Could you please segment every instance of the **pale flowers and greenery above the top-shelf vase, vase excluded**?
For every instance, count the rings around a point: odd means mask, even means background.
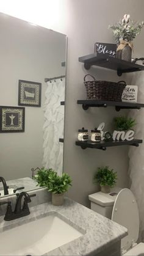
[[[122,20],[118,21],[118,23],[115,25],[109,25],[109,28],[112,29],[117,43],[119,43],[121,40],[131,42],[137,35],[140,34],[143,24],[143,21],[140,23],[135,23],[130,19],[129,14],[125,14]]]

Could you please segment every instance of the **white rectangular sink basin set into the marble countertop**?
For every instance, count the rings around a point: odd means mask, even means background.
[[[43,255],[84,233],[68,224],[60,214],[52,212],[0,233],[0,255]]]

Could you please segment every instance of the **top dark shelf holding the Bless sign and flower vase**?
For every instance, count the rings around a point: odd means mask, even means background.
[[[144,70],[144,66],[142,65],[138,65],[132,62],[128,62],[126,60],[121,60],[113,57],[99,58],[96,56],[96,53],[79,57],[79,62],[84,63],[84,67],[86,70],[90,69],[90,67],[93,65],[103,68],[109,68],[112,70],[117,70],[118,76],[121,76],[123,73]]]

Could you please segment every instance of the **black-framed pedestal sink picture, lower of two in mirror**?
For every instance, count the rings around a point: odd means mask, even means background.
[[[25,108],[0,106],[0,133],[24,132]]]

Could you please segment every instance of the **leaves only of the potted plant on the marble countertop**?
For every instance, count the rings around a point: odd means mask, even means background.
[[[51,172],[49,174],[48,191],[54,194],[62,194],[68,191],[71,182],[70,176],[65,172],[62,176],[57,175],[56,172]]]

